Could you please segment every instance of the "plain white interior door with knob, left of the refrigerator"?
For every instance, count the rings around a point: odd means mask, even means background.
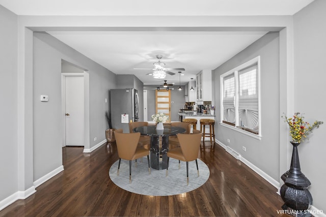
[[[84,77],[65,77],[66,145],[84,146]]]

